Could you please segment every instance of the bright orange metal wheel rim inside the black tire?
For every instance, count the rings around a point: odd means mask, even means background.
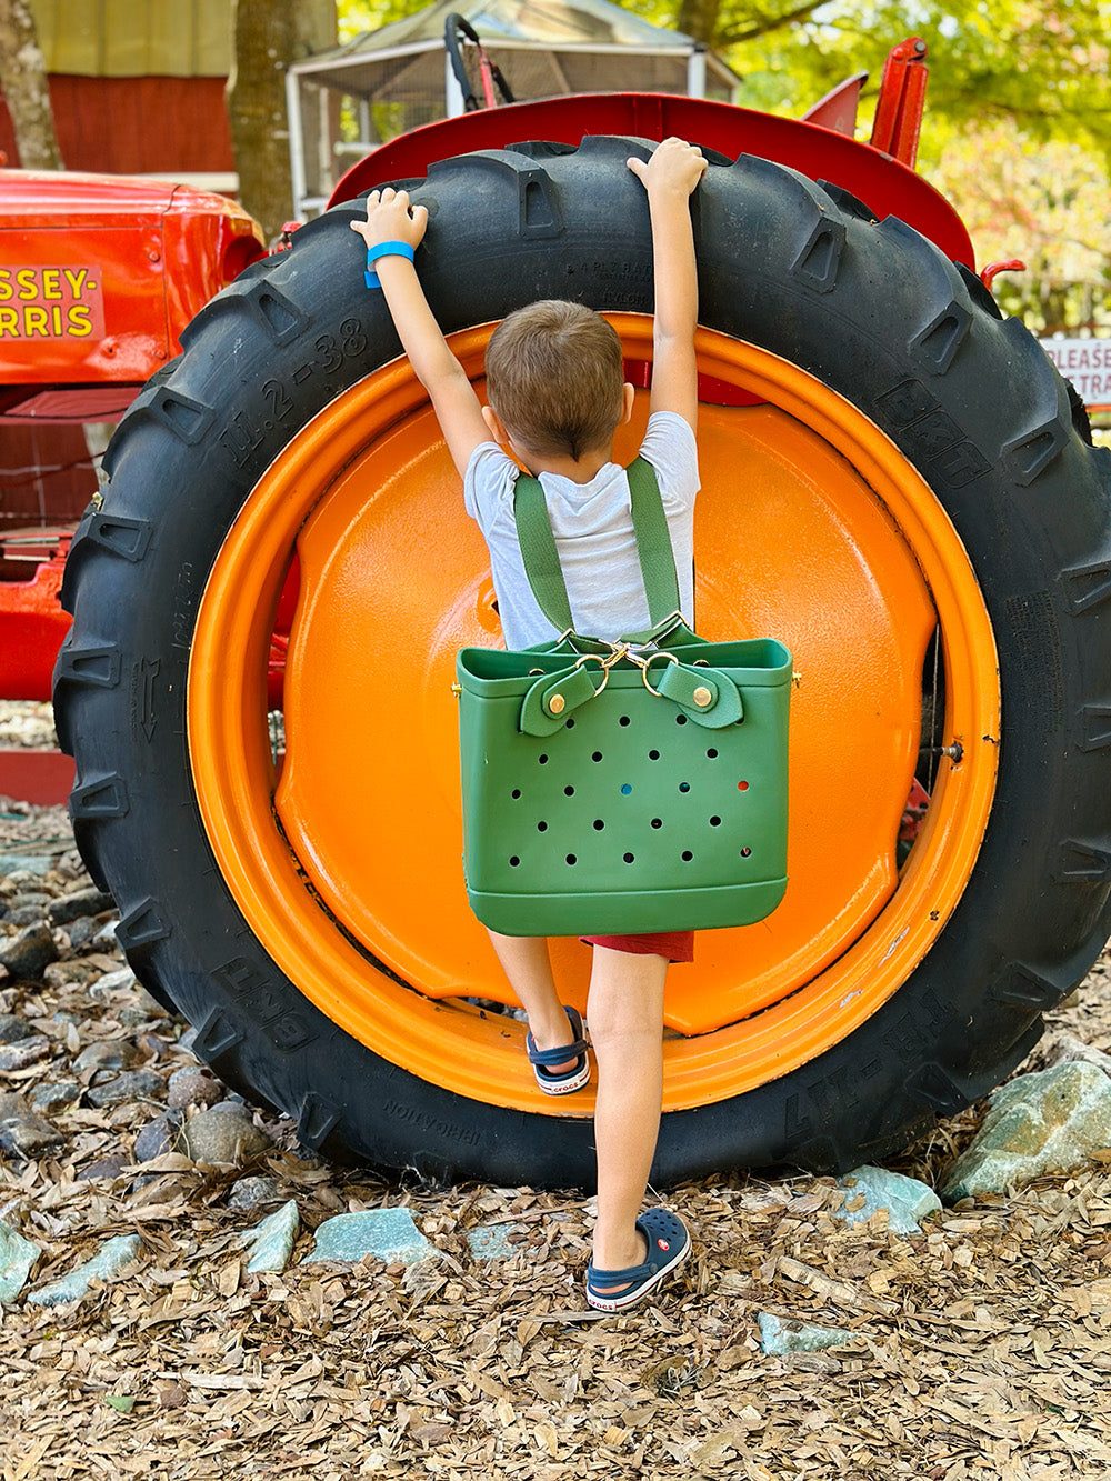
[[[650,358],[649,318],[607,317],[631,358]],[[476,381],[492,327],[452,339]],[[699,628],[781,637],[801,681],[788,893],[767,921],[699,936],[699,961],[671,972],[670,1111],[782,1077],[898,991],[967,884],[1000,735],[991,621],[918,472],[797,366],[710,330],[698,352],[707,375],[767,403],[701,412]],[[615,456],[633,455],[644,415]],[[295,548],[302,586],[278,776],[267,650]],[[952,749],[899,871],[935,625]],[[458,1094],[590,1115],[590,1091],[573,1106],[541,1094],[521,1023],[464,1001],[513,1001],[465,905],[450,696],[455,649],[496,640],[481,538],[425,392],[394,361],[292,440],[224,541],[190,658],[193,780],[240,911],[327,1017]],[[558,943],[557,958],[569,1001],[584,1007],[587,948]]]

